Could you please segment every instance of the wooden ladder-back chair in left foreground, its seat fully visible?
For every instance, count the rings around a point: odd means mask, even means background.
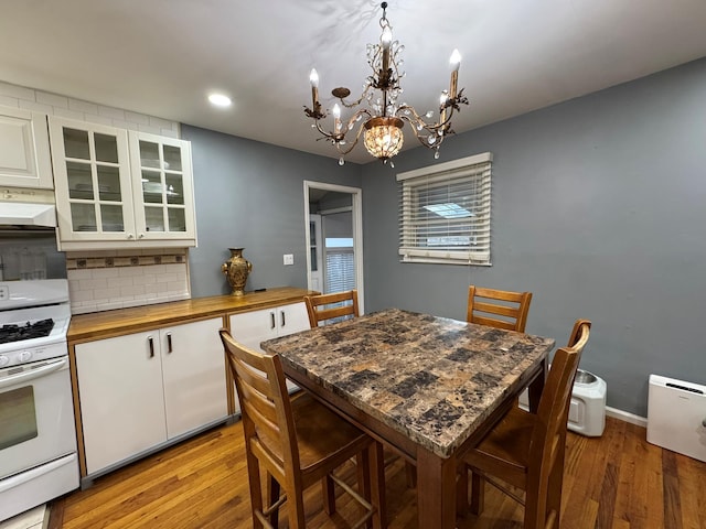
[[[319,482],[329,515],[335,512],[335,483],[365,511],[351,527],[385,527],[382,445],[310,393],[290,398],[278,355],[248,349],[225,328],[220,334],[240,402],[253,527],[276,528],[287,501],[289,528],[303,529],[303,492]],[[357,492],[333,474],[351,457],[359,463]],[[261,472],[268,478],[265,501]]]

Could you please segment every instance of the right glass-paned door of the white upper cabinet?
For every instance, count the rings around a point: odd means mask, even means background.
[[[138,239],[195,238],[191,145],[129,132]]]

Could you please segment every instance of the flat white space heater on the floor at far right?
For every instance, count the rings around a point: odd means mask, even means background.
[[[706,462],[706,386],[650,375],[648,442]]]

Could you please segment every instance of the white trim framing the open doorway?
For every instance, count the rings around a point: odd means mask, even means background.
[[[304,234],[307,242],[307,287],[311,289],[311,237],[309,234],[309,190],[325,190],[336,193],[350,193],[353,217],[353,251],[355,253],[355,288],[361,314],[365,313],[365,288],[363,284],[363,190],[347,185],[328,184],[304,180]]]

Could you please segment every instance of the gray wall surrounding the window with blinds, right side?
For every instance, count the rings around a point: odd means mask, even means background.
[[[395,174],[431,151],[364,165],[367,311],[464,319],[470,283],[530,290],[530,333],[592,320],[608,406],[645,417],[651,373],[706,384],[705,95],[700,60],[447,140],[439,162],[494,154],[489,268],[399,262]]]

